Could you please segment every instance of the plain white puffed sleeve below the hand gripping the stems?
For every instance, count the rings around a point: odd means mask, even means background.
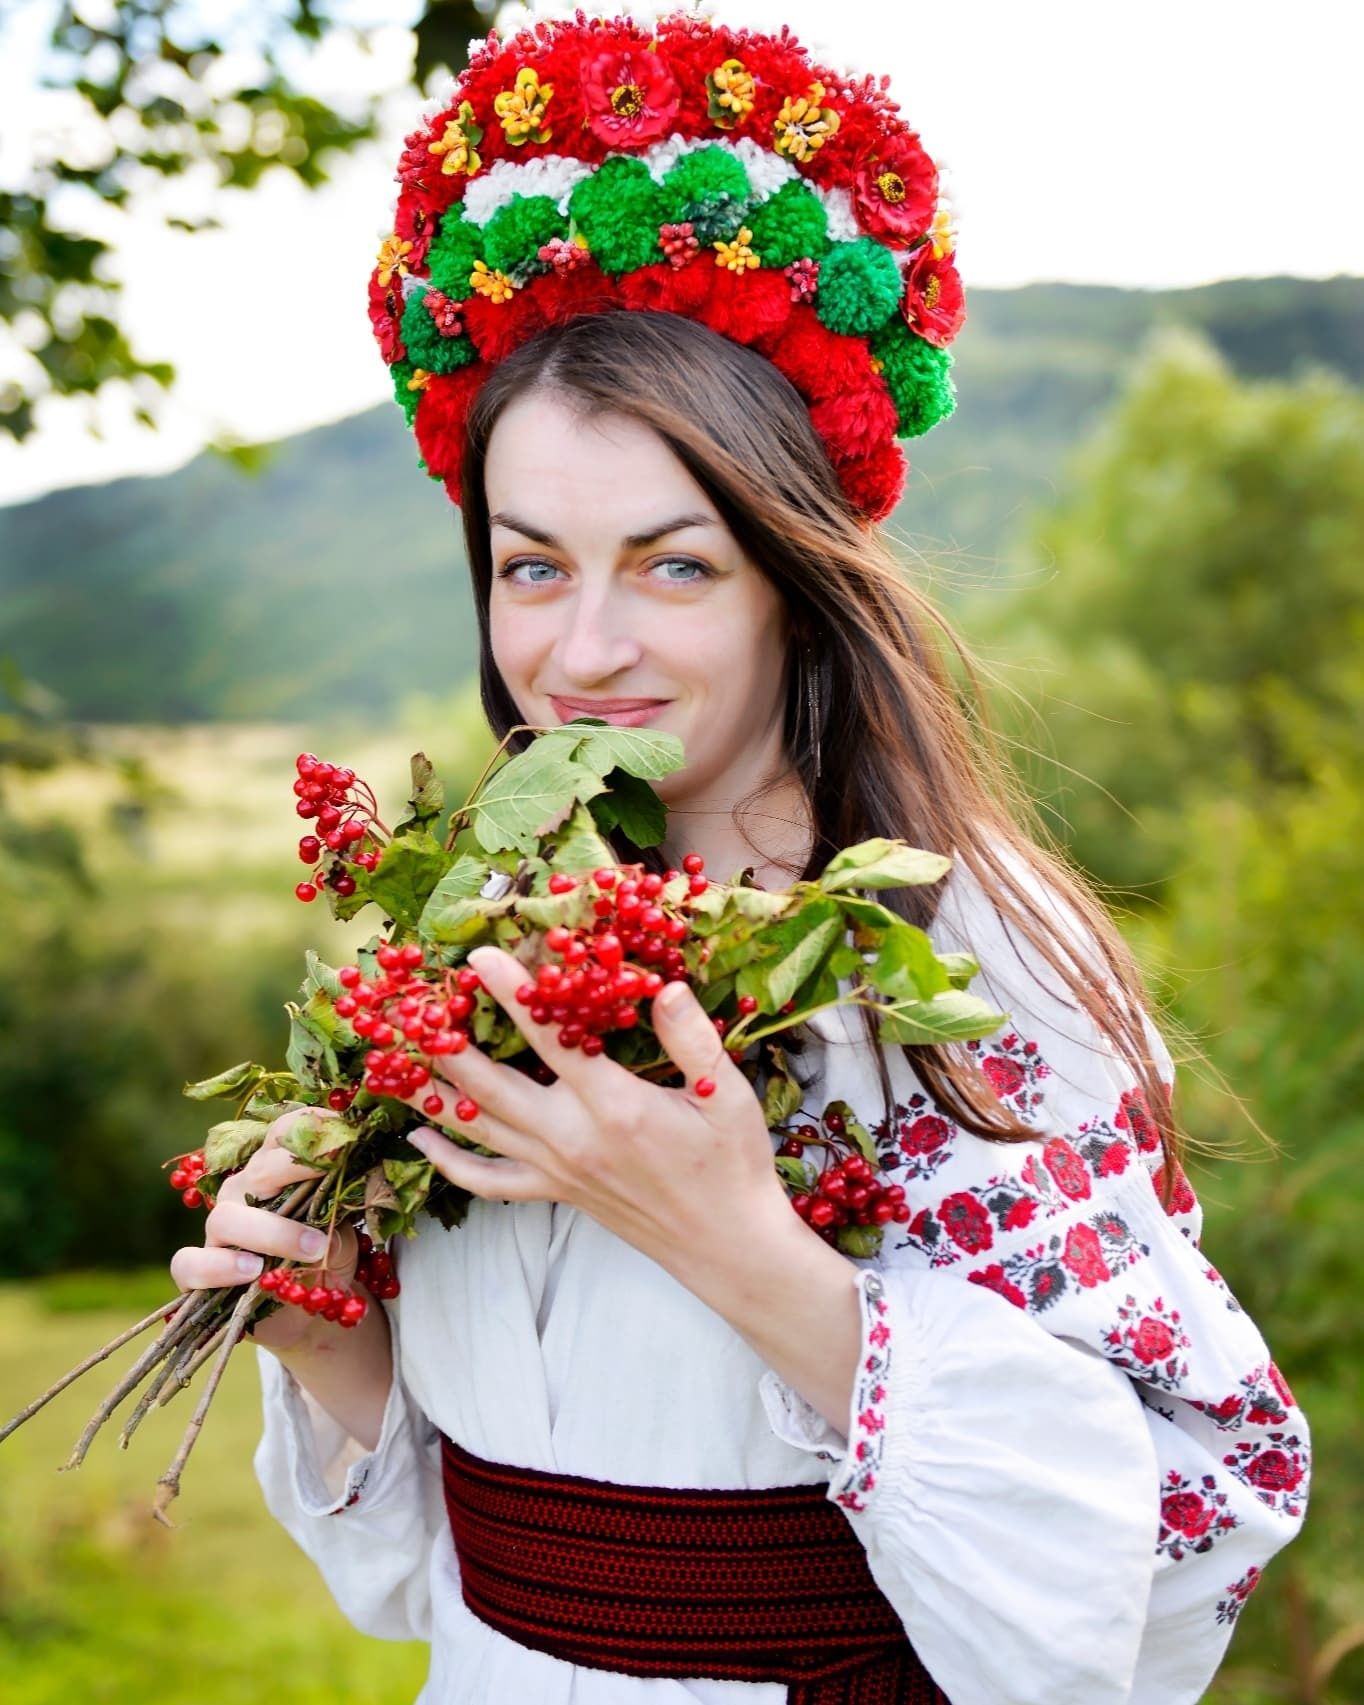
[[[431,1546],[445,1521],[440,1434],[394,1378],[372,1451],[269,1350],[256,1347],[264,1434],[254,1470],[266,1507],[314,1560],[343,1615],[380,1640],[430,1640]]]

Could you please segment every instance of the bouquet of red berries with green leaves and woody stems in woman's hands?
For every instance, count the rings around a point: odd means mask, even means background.
[[[852,1110],[832,1101],[815,1115],[801,1112],[789,1055],[793,1032],[830,1006],[870,1008],[887,1043],[970,1040],[1004,1021],[967,992],[979,968],[968,957],[938,955],[921,929],[873,897],[936,881],[950,861],[875,839],[835,854],[817,880],[779,892],[750,885],[747,871],[737,881],[713,881],[699,854],[685,856],[680,870],[621,864],[607,839],[614,830],[638,849],[663,839],[667,810],[650,783],[682,766],[680,742],[590,720],[518,728],[506,738],[525,731],[537,738],[498,766],[503,742],[443,837],[435,832],[443,789],[423,754],[411,760],[407,815],[392,830],[355,771],[314,754],[298,757],[295,808],[312,829],[298,842],[309,875],[295,895],[305,904],[326,895],[338,919],[375,904],[384,933],[358,950],[353,965],[332,967],[307,953],[298,999],[285,1006],[285,1069],[244,1061],[184,1088],[199,1101],[235,1103],[234,1117],[215,1124],[201,1149],[169,1163],[170,1187],[186,1207],[211,1209],[223,1180],[246,1166],[281,1113],[292,1113],[278,1141],[317,1175],[254,1205],[327,1231],[353,1226],[361,1289],[327,1289],[280,1260],[249,1286],[177,1296],[65,1374],[0,1427],[0,1439],[78,1374],[160,1325],[95,1410],[66,1466],[84,1459],[138,1384],[147,1381],[119,1434],[124,1448],[153,1403],[167,1403],[211,1362],[159,1482],[153,1512],[165,1521],[227,1359],[257,1320],[302,1308],[346,1328],[365,1316],[367,1294],[397,1294],[390,1240],[414,1236],[421,1212],[454,1229],[471,1200],[404,1142],[419,1124],[409,1098],[431,1081],[431,1061],[477,1047],[552,1083],[465,963],[486,943],[522,962],[517,999],[535,1025],[552,1026],[563,1047],[607,1054],[665,1086],[680,1084],[682,1072],[653,1032],[648,1001],[663,984],[687,980],[762,1101],[779,1139],[774,1165],[806,1224],[844,1253],[868,1257],[888,1222],[909,1219],[904,1190],[876,1176],[875,1142]],[[708,1083],[692,1088],[706,1095]],[[438,1110],[438,1098],[425,1105],[428,1113]],[[477,1105],[462,1100],[455,1117],[472,1122]]]

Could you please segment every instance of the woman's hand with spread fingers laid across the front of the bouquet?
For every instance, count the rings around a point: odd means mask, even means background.
[[[498,1202],[578,1207],[679,1277],[776,1224],[801,1229],[772,1166],[762,1107],[685,984],[665,984],[653,999],[658,1040],[687,1079],[684,1089],[663,1089],[605,1054],[561,1047],[552,1025],[535,1025],[517,1001],[525,967],[510,953],[477,948],[469,963],[558,1083],[537,1084],[472,1047],[438,1055],[445,1084],[431,1079],[407,1096],[413,1107],[433,1091],[442,1098],[442,1112],[413,1132],[438,1173]],[[714,1089],[697,1095],[704,1079]],[[460,1122],[465,1095],[479,1113]],[[496,1158],[469,1153],[440,1127]]]

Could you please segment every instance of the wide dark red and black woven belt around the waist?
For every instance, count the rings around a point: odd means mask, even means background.
[[[692,1492],[486,1463],[442,1434],[464,1603],[629,1676],[779,1681],[789,1705],[950,1705],[824,1485]]]

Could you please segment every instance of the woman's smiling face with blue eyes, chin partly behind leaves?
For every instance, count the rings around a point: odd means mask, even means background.
[[[738,798],[781,760],[781,597],[651,428],[530,392],[484,479],[493,656],[527,723],[679,735],[668,803]]]

